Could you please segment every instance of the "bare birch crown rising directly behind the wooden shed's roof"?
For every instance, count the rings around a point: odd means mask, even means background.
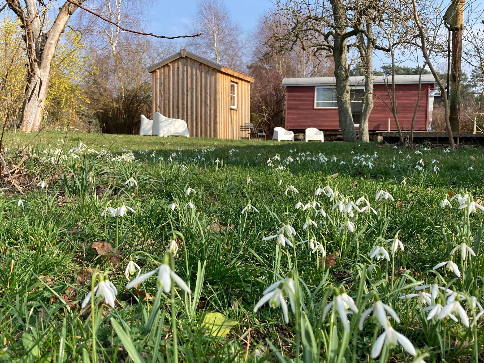
[[[230,68],[243,69],[241,54],[246,46],[243,31],[223,0],[200,0],[190,30],[202,33],[187,44],[194,53]]]

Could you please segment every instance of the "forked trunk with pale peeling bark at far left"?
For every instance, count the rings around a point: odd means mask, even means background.
[[[80,5],[84,0],[77,0],[76,2]],[[37,9],[34,0],[25,0],[27,14],[18,0],[13,0],[8,5],[25,29],[24,40],[28,57],[27,86],[20,131],[38,131],[47,98],[52,59],[67,21],[74,14],[77,6],[65,2],[52,27],[44,32],[40,19],[42,12]]]

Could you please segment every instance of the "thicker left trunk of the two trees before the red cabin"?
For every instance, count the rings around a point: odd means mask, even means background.
[[[341,0],[331,0],[334,19],[334,77],[336,79],[336,104],[338,106],[339,126],[343,141],[356,141],[355,125],[351,115],[351,99],[349,96],[348,61],[346,33],[348,19],[346,9]],[[342,33],[341,33],[342,32]]]

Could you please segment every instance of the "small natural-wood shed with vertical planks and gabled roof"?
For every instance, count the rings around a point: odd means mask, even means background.
[[[241,139],[254,78],[186,49],[153,64],[153,112],[181,118],[191,137]]]

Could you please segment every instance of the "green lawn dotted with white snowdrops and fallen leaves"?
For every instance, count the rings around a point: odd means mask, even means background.
[[[33,136],[0,362],[484,359],[481,149]]]

